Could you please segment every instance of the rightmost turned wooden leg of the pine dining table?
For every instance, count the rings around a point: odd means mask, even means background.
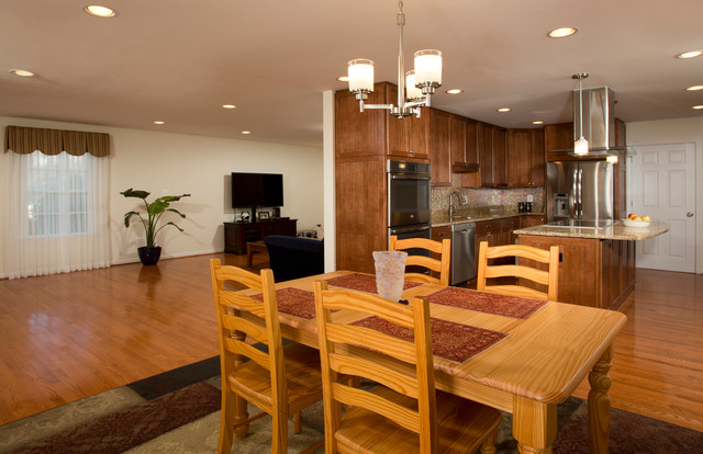
[[[589,374],[589,453],[607,453],[611,424],[611,376],[613,345],[603,353]]]

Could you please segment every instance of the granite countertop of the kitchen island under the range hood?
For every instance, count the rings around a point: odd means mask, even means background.
[[[578,228],[566,226],[535,226],[514,230],[515,235],[537,235],[544,237],[594,238],[611,240],[643,241],[669,231],[667,223],[652,220],[649,227],[625,227],[622,220],[604,228]]]

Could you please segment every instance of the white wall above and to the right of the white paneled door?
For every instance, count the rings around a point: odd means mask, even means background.
[[[703,273],[703,117],[627,123],[627,145],[694,143],[696,159],[696,273]]]

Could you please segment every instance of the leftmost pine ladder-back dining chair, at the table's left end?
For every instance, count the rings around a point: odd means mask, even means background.
[[[282,347],[271,270],[261,270],[259,275],[236,266],[223,266],[220,259],[210,260],[210,270],[222,371],[217,452],[228,454],[235,429],[239,428],[237,436],[243,438],[249,422],[268,413],[274,424],[271,453],[287,453],[288,417],[293,416],[294,432],[300,433],[300,411],[322,399],[320,353],[299,343]],[[260,292],[263,300],[225,290],[225,283],[237,283]],[[247,343],[247,337],[265,344],[266,351]],[[248,418],[247,401],[263,411]],[[246,415],[245,419],[235,420],[237,413]],[[303,453],[312,452],[323,443],[310,446]]]

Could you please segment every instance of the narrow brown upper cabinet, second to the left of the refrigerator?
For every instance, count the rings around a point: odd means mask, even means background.
[[[484,123],[479,124],[481,186],[507,186],[506,141],[506,129]]]

